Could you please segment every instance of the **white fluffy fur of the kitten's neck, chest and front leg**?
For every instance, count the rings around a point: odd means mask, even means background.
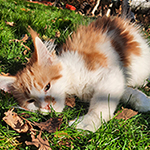
[[[68,51],[59,60],[63,65],[63,77],[58,81],[59,92],[62,90],[61,93],[75,94],[85,101],[91,100],[89,113],[83,120],[80,118],[82,121],[77,128],[95,131],[101,124],[100,114],[102,113],[104,120],[112,118],[124,92],[125,79],[122,69],[114,63],[110,68],[100,67],[89,71],[82,56],[77,52]]]

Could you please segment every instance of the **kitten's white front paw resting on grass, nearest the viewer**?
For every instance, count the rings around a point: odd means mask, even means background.
[[[97,118],[97,120],[93,120],[90,115],[85,115],[69,122],[69,126],[72,124],[76,124],[76,129],[95,132],[100,126],[100,119]]]

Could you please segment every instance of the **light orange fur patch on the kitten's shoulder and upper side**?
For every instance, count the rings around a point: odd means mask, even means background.
[[[107,57],[97,49],[96,44],[104,41],[105,37],[101,37],[93,27],[81,26],[77,32],[73,33],[63,45],[64,51],[78,51],[83,56],[85,64],[89,70],[95,70],[107,67]]]

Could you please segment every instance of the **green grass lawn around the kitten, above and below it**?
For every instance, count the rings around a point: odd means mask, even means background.
[[[41,37],[46,36],[55,39],[57,43],[65,41],[66,37],[77,27],[78,24],[86,24],[89,18],[82,17],[73,11],[59,10],[54,7],[28,3],[23,0],[0,0],[0,72],[16,71],[27,62],[29,52],[23,55],[25,48],[20,43],[12,42],[12,39],[21,39],[23,34],[28,33],[26,27],[30,25]],[[14,22],[14,26],[6,25],[6,22]],[[45,28],[46,27],[46,28]],[[57,30],[61,36],[55,37]],[[33,50],[32,42],[26,43]],[[148,93],[149,94],[149,93]],[[34,146],[26,146],[24,141],[30,139],[29,134],[19,134],[8,126],[2,118],[4,112],[12,106],[16,106],[14,98],[6,93],[0,93],[0,149],[36,149]],[[84,104],[83,104],[84,105]],[[63,123],[59,131],[55,133],[43,132],[42,137],[49,140],[52,149],[79,149],[79,150],[144,150],[150,149],[150,113],[138,114],[131,119],[117,120],[113,118],[103,123],[95,133],[76,130],[68,127],[68,121],[79,113],[81,103],[75,108],[66,106],[61,113]],[[30,121],[46,121],[50,117],[59,114],[52,113],[42,116],[38,113],[15,109],[21,116],[28,114]]]

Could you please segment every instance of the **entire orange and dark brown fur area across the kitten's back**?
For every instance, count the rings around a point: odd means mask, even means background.
[[[134,40],[131,28],[133,29],[127,20],[103,17],[87,27],[81,26],[66,41],[63,48],[65,51],[78,51],[79,54],[83,55],[87,68],[95,70],[100,66],[107,67],[108,65],[107,57],[96,48],[96,44],[104,43],[105,39],[109,38],[123,65],[127,67],[130,65],[131,54],[141,55],[139,43]]]

